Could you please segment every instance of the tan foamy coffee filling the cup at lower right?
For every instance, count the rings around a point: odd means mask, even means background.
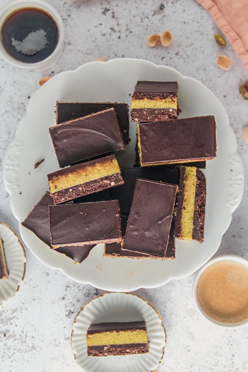
[[[197,283],[197,300],[202,310],[221,323],[238,323],[248,318],[248,267],[233,260],[208,266]]]

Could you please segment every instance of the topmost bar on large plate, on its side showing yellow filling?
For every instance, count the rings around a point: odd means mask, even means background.
[[[138,81],[132,96],[132,121],[175,120],[179,112],[176,81]]]

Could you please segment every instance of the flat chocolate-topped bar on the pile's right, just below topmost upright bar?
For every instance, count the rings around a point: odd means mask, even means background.
[[[137,129],[141,166],[187,163],[216,157],[214,116],[140,123]]]

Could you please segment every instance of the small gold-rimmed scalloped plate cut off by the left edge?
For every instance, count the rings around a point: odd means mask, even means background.
[[[4,252],[9,278],[0,279],[0,305],[13,298],[23,282],[26,270],[26,254],[16,233],[0,222],[0,237],[3,240]]]

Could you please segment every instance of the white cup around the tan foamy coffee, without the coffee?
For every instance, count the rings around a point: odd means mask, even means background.
[[[197,300],[197,294],[196,294],[196,290],[197,290],[197,284],[198,284],[198,281],[200,279],[200,276],[202,275],[202,273],[204,272],[204,270],[210,266],[212,263],[214,262],[218,262],[218,261],[223,261],[223,260],[230,260],[230,261],[235,261],[235,262],[239,262],[239,263],[242,263],[243,265],[247,266],[248,267],[248,260],[244,259],[243,257],[241,256],[236,256],[234,254],[223,254],[222,256],[218,256],[218,257],[213,257],[211,260],[209,260],[205,265],[203,265],[199,271],[197,272],[195,278],[194,278],[194,281],[193,281],[193,288],[192,288],[192,295],[193,295],[193,299],[194,299],[194,302],[198,308],[198,310],[200,311],[200,313],[203,315],[203,317],[205,317],[207,320],[209,320],[210,322],[212,322],[213,324],[216,324],[216,325],[219,325],[221,327],[225,327],[225,328],[236,328],[236,327],[242,327],[244,326],[245,324],[248,324],[248,318],[245,319],[245,320],[242,320],[241,322],[238,322],[238,323],[221,323],[221,322],[218,322],[217,320],[214,320],[213,318],[209,317],[204,311],[203,309],[200,307],[199,305],[199,302]]]

